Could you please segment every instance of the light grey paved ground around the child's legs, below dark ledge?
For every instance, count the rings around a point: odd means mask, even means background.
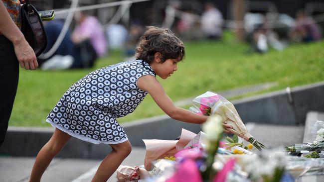
[[[142,165],[144,157],[144,148],[133,148],[122,165]],[[34,160],[33,157],[0,157],[0,182],[28,182]],[[90,182],[100,162],[86,159],[54,159],[45,171],[42,182]],[[108,182],[116,182],[116,175]]]

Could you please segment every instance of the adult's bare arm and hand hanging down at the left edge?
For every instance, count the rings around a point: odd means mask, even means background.
[[[35,53],[19,28],[12,21],[2,0],[0,0],[0,17],[0,32],[12,42],[20,66],[26,70],[36,69],[38,63]]]

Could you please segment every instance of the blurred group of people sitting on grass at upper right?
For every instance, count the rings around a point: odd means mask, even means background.
[[[277,12],[246,13],[246,40],[252,51],[265,53],[269,48],[284,50],[295,42],[314,42],[322,39],[322,30],[304,10],[296,12],[296,19]]]

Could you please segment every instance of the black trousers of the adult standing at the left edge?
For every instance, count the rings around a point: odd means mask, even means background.
[[[13,45],[0,35],[0,147],[8,129],[18,78],[19,63]]]

